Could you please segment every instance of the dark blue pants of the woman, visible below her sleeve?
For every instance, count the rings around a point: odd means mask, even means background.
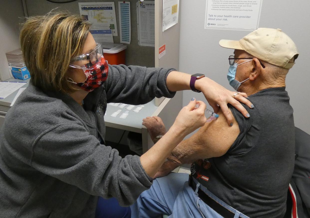
[[[130,218],[130,207],[121,207],[116,198],[104,199],[99,197],[95,218]]]

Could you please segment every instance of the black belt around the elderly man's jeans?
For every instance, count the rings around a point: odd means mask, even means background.
[[[189,178],[188,178],[188,185],[192,187],[194,191],[196,191],[196,185],[193,182],[193,178],[191,175],[189,175]],[[228,209],[226,209],[225,207],[217,203],[215,200],[210,198],[206,193],[201,191],[201,189],[198,189],[197,194],[198,194],[198,197],[204,203],[206,203],[209,207],[211,207],[215,212],[217,212],[219,215],[223,216],[224,218],[233,218],[235,216],[233,212],[229,211]]]

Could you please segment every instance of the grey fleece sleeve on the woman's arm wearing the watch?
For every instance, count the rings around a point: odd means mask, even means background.
[[[140,66],[108,65],[105,91],[108,102],[144,104],[157,97],[172,98],[175,92],[167,89],[166,80],[175,69]]]

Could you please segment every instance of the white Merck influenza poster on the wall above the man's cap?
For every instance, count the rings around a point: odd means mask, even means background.
[[[263,0],[207,0],[205,29],[253,31],[258,28]]]

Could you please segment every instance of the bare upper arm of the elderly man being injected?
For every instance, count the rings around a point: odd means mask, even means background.
[[[233,125],[228,126],[227,120],[220,110],[219,118],[206,123],[191,138],[201,149],[197,159],[219,157],[224,155],[238,137],[239,125],[233,116]]]

